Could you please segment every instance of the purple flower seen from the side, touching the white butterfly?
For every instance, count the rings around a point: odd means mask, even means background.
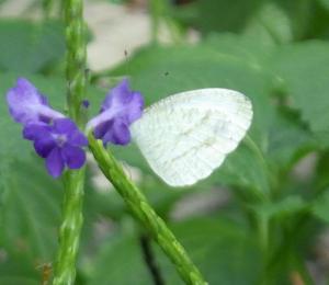
[[[95,138],[103,144],[127,145],[131,141],[129,125],[141,116],[144,99],[132,91],[124,79],[106,95],[100,114],[92,118],[87,129],[93,129]]]

